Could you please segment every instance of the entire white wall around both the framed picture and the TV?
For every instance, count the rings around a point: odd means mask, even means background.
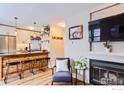
[[[104,8],[105,6],[108,6],[111,4],[103,4],[102,6],[99,7],[95,7],[95,10]],[[66,22],[66,28],[65,28],[65,57],[70,57],[73,58],[74,60],[79,59],[80,57],[85,58],[85,57],[89,57],[90,55],[92,55],[90,58],[94,57],[94,58],[101,58],[101,59],[111,59],[111,60],[115,60],[115,58],[120,58],[120,57],[124,57],[124,56],[118,56],[119,54],[124,55],[124,42],[112,42],[112,46],[113,46],[113,52],[111,54],[108,54],[102,43],[93,43],[93,53],[89,55],[89,43],[88,43],[88,21],[89,21],[89,13],[91,11],[93,11],[94,9],[90,10],[90,11],[86,11],[86,12],[82,12],[80,14],[76,14],[72,17],[70,17],[69,19],[67,19]],[[94,10],[94,11],[95,11]],[[115,15],[118,13],[122,13],[124,10],[124,5],[119,5],[117,7],[114,7],[112,9],[109,10],[105,10],[101,13],[96,13],[93,15],[93,20],[95,19],[100,19],[103,17],[107,17],[107,16],[111,16],[111,15]],[[83,31],[84,31],[84,35],[83,35],[83,39],[81,40],[69,40],[69,27],[71,26],[76,26],[76,25],[80,25],[83,24]],[[103,55],[97,54],[96,53],[103,53]],[[94,55],[94,56],[93,56]],[[100,55],[100,56],[99,56]],[[115,57],[116,56],[116,57]],[[89,67],[89,63],[87,65]],[[89,82],[89,71],[87,70],[86,72],[86,82]]]

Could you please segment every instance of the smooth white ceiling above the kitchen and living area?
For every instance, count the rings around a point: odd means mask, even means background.
[[[18,17],[19,26],[37,26],[57,23],[79,12],[85,12],[100,3],[22,3],[0,4],[0,23],[14,25],[14,17]]]

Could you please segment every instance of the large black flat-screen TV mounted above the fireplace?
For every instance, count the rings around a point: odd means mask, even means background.
[[[124,13],[89,22],[90,42],[124,41]]]

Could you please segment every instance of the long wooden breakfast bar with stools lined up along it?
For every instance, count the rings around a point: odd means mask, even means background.
[[[13,62],[13,61],[20,61],[23,62],[24,60],[35,60],[38,58],[47,58],[49,52],[14,52],[14,53],[6,53],[6,54],[0,54],[0,80],[4,79],[5,76],[5,68],[7,62]],[[43,63],[44,66],[48,67],[48,62]],[[13,70],[15,68],[11,68]],[[14,70],[12,71],[14,72]]]

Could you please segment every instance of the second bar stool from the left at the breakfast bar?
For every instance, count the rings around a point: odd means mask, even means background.
[[[31,72],[33,75],[35,74],[33,69],[34,69],[34,60],[31,58],[24,58],[22,61],[22,74],[24,78],[24,71],[25,71],[25,66],[28,65],[29,72]]]

